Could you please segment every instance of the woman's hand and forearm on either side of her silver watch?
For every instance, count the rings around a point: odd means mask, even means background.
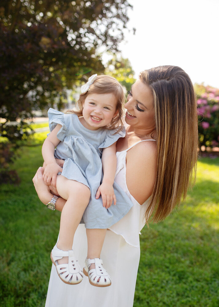
[[[51,193],[48,185],[44,183],[43,180],[43,168],[39,167],[35,176],[33,177],[33,184],[36,189],[36,193],[43,204],[48,204],[48,202],[52,199],[53,194]],[[59,197],[56,200],[56,210],[62,211],[66,200]]]

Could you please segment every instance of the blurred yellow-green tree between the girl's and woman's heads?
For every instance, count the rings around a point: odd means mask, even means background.
[[[106,64],[105,74],[116,78],[125,88],[130,91],[135,82],[134,71],[129,59],[121,56],[113,56]]]

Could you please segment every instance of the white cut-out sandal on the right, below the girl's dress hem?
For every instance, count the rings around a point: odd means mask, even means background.
[[[95,264],[95,269],[89,270],[91,263]],[[91,285],[96,287],[108,287],[111,285],[111,278],[107,271],[102,267],[103,261],[99,258],[86,259],[83,268],[84,275],[88,276]],[[100,280],[98,281],[98,279]]]

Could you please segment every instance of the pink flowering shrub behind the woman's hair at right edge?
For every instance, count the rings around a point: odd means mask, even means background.
[[[199,147],[219,146],[219,89],[194,85],[197,95]]]

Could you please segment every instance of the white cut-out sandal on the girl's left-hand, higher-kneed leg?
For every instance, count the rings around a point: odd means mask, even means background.
[[[56,266],[56,271],[63,282],[69,285],[79,284],[83,279],[83,273],[78,261],[75,259],[74,251],[62,251],[56,245],[51,252],[51,260]],[[58,260],[68,257],[68,263],[59,264]]]

